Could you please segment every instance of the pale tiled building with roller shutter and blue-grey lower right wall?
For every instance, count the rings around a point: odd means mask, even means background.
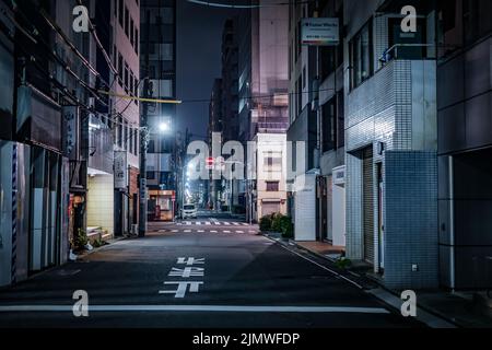
[[[390,288],[435,288],[437,135],[435,11],[414,1],[345,1],[347,256]]]

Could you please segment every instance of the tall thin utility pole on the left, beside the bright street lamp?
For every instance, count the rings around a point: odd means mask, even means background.
[[[150,98],[149,79],[149,55],[150,55],[150,11],[147,12],[147,52],[145,52],[145,74],[143,81],[143,97]],[[142,114],[140,116],[140,215],[139,215],[139,237],[144,237],[147,233],[147,151],[149,148],[149,104],[142,103]]]

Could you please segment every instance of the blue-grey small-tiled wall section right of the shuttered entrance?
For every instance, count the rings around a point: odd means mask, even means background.
[[[436,288],[436,152],[389,151],[385,162],[385,284]]]

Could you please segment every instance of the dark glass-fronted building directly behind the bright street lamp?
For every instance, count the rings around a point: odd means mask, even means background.
[[[149,78],[152,98],[176,97],[176,1],[142,0],[142,73]],[[143,108],[142,108],[143,113]],[[150,140],[147,158],[148,219],[174,220],[180,176],[176,147],[176,106],[151,104],[147,109]]]

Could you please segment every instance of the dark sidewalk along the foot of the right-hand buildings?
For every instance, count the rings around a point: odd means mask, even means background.
[[[294,242],[283,240],[280,235],[272,233],[267,236],[284,246],[307,250],[331,264],[336,262],[344,252],[343,247],[336,247],[324,242]],[[354,280],[356,280],[355,277],[361,273],[361,270],[364,269],[361,269],[358,265],[349,269],[348,272],[353,275]],[[354,273],[354,271],[358,273]],[[365,273],[362,272],[361,275]],[[360,277],[364,278],[364,276]],[[401,305],[399,293],[387,290],[375,279],[371,280],[374,282],[374,288],[370,289],[368,292],[384,303],[399,310]],[[419,291],[418,308],[418,314],[421,316],[419,318],[431,327],[492,328],[492,302],[484,293],[478,295],[472,292],[452,293],[444,290]],[[443,322],[440,322],[440,318]]]

